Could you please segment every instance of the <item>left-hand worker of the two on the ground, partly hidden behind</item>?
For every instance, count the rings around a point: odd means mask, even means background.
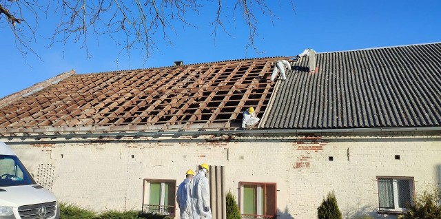
[[[179,210],[181,211],[181,219],[193,218],[193,205],[192,205],[192,179],[194,177],[194,171],[191,169],[185,173],[185,180],[179,185],[176,192],[176,202],[178,202]]]

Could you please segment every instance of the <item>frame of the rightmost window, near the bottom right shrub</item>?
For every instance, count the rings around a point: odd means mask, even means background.
[[[384,208],[380,207],[380,180],[392,180],[392,188],[393,188],[393,208]],[[378,191],[378,213],[395,213],[395,214],[401,214],[407,211],[407,208],[405,207],[399,207],[399,200],[398,200],[398,180],[409,180],[409,190],[411,192],[411,205],[414,205],[413,203],[413,197],[415,197],[415,178],[413,176],[377,176],[376,182],[377,182],[377,191]]]

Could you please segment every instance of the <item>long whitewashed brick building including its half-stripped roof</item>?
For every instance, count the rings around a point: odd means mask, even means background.
[[[178,218],[176,187],[208,163],[214,218],[227,191],[243,218],[316,218],[331,191],[345,218],[396,218],[441,185],[438,54],[429,43],[69,72],[0,100],[0,138],[60,200],[96,211]],[[271,83],[279,59],[291,68]],[[241,129],[251,106],[260,123]]]

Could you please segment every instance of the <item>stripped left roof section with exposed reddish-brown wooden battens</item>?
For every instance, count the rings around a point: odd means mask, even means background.
[[[278,59],[74,74],[0,107],[0,136],[236,129],[247,107],[263,115]]]

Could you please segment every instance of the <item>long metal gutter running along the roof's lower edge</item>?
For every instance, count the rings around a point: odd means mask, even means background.
[[[26,138],[105,138],[105,137],[143,137],[143,136],[201,136],[201,135],[253,135],[253,134],[308,134],[308,133],[354,133],[354,132],[427,132],[441,131],[441,127],[378,127],[349,129],[254,129],[254,130],[216,130],[216,131],[163,131],[163,132],[108,132],[83,134],[52,134],[26,136],[0,136],[7,139]]]

